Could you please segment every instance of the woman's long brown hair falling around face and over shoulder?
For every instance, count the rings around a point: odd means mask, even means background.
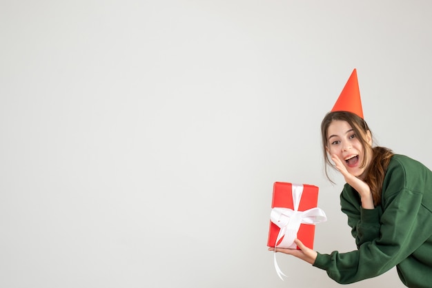
[[[362,163],[360,163],[360,167],[364,167],[366,165],[366,159],[371,159],[369,167],[366,167],[366,176],[364,177],[364,182],[369,185],[371,188],[371,193],[373,197],[373,204],[375,206],[380,205],[381,203],[381,194],[382,194],[382,182],[384,181],[384,176],[386,176],[386,170],[389,166],[390,159],[394,155],[389,148],[386,147],[372,147],[366,141],[366,134],[369,131],[372,136],[372,132],[369,129],[366,121],[364,121],[360,116],[353,114],[351,112],[337,111],[337,112],[329,112],[326,114],[321,123],[321,136],[322,136],[322,149],[324,153],[324,172],[326,177],[331,183],[334,183],[330,176],[328,175],[328,166],[333,167],[335,169],[335,165],[331,161],[330,155],[328,155],[326,147],[328,147],[328,126],[333,121],[346,121],[354,130],[354,133],[357,135],[357,139],[360,141],[363,150],[364,157]]]

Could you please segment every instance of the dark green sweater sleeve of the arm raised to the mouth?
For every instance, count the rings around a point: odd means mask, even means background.
[[[340,204],[342,212],[348,216],[348,225],[358,248],[379,236],[381,209],[364,209],[357,192],[352,187],[349,188],[346,187],[341,193]]]

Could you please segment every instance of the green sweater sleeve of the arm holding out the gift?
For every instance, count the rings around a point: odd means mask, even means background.
[[[431,231],[424,229],[424,223],[430,223],[432,219],[431,211],[422,205],[422,189],[406,187],[403,169],[395,169],[393,175],[386,176],[391,179],[383,191],[385,207],[376,237],[362,238],[359,226],[364,223],[358,220],[357,232],[354,232],[361,239],[358,250],[317,255],[313,265],[325,269],[336,282],[348,284],[383,274],[410,256],[431,236]],[[369,217],[348,214],[353,219]]]

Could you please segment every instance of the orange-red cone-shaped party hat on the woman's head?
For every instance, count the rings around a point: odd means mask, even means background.
[[[357,70],[353,70],[331,112],[347,111],[363,118],[362,99],[357,81]]]

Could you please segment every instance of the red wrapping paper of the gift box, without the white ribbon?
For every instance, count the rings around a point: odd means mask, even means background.
[[[298,186],[298,185],[297,185]],[[318,187],[314,185],[303,185],[303,192],[301,194],[300,203],[298,204],[297,211],[304,212],[308,209],[317,207],[318,203]],[[284,182],[275,182],[273,185],[273,200],[272,208],[283,207],[289,209],[295,209],[293,202],[293,184]],[[325,218],[324,212],[322,212]],[[324,220],[324,219],[323,219]],[[280,228],[275,223],[270,222],[270,228],[268,232],[268,247],[275,247],[277,236]],[[315,225],[302,223],[297,232],[297,238],[302,243],[311,249],[313,249],[313,240],[315,236]],[[279,239],[277,245],[281,243],[283,238]],[[277,246],[276,245],[276,246]],[[297,247],[297,249],[299,249]]]

